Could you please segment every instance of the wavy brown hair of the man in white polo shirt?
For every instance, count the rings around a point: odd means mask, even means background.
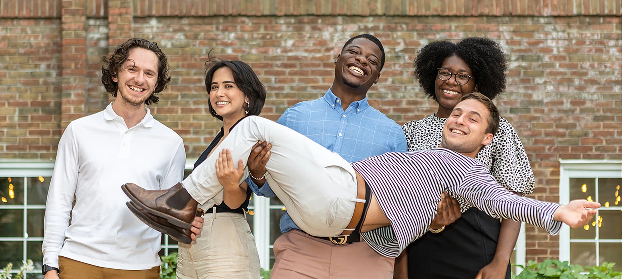
[[[101,83],[106,87],[106,91],[116,97],[119,89],[117,82],[113,81],[117,73],[121,70],[121,65],[128,61],[129,51],[133,48],[144,48],[156,53],[157,56],[157,85],[152,92],[151,96],[145,100],[146,105],[157,104],[160,100],[157,97],[159,92],[164,91],[170,82],[169,76],[169,63],[166,60],[166,55],[157,46],[157,43],[149,42],[143,38],[131,38],[124,43],[121,43],[114,49],[111,55],[103,57],[104,64],[101,66]]]

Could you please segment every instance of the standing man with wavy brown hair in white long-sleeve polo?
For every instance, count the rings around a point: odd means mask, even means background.
[[[145,107],[158,102],[168,68],[157,44],[139,38],[104,57],[101,82],[114,102],[74,120],[58,143],[45,210],[46,279],[159,278],[160,232],[132,215],[118,185],[157,190],[183,178],[182,138]],[[198,234],[202,218],[193,226]]]

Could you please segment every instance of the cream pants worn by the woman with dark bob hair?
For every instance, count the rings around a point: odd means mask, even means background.
[[[197,241],[179,244],[177,278],[258,279],[259,254],[246,216],[206,213]]]

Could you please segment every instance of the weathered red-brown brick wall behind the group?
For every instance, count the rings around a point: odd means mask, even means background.
[[[49,0],[46,12],[30,15],[10,13],[26,11],[27,5],[7,12],[12,7],[7,2],[15,1],[0,0],[0,159],[53,159],[68,121],[108,104],[109,94],[99,81],[101,56],[128,36],[159,43],[169,57],[173,79],[151,108],[183,137],[188,157],[197,157],[221,125],[207,111],[203,84],[211,48],[221,58],[251,64],[268,89],[263,115],[276,120],[285,108],[328,89],[332,61],[343,43],[359,33],[379,37],[387,55],[369,102],[400,124],[435,112],[434,102],[425,99],[412,78],[420,47],[471,36],[496,40],[509,61],[508,89],[496,104],[526,146],[537,178],[534,198],[558,200],[559,159],[622,159],[619,1],[484,1],[494,5],[466,9],[468,16],[450,7],[470,2],[460,0],[440,1],[438,7],[419,0],[400,5],[363,1],[376,7],[365,10],[369,16],[347,9],[348,1],[304,6],[310,1],[283,0],[284,6],[277,5],[286,7],[282,12],[271,8],[276,1],[264,1],[260,6],[269,8],[253,10],[264,16],[233,9],[251,5],[243,0],[214,1],[209,10],[192,6],[202,1],[188,1],[184,10],[173,1],[72,0],[60,5]],[[229,9],[224,3],[233,4]],[[399,9],[390,15],[386,7],[396,5]],[[491,7],[504,8],[497,16],[498,9]],[[511,16],[521,11],[514,7],[534,9]],[[419,9],[430,16],[409,15],[421,14]],[[527,226],[528,259],[557,257],[557,239]]]

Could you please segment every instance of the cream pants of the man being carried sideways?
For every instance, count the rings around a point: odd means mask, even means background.
[[[234,164],[242,159],[246,166],[258,141],[272,144],[266,180],[294,223],[313,236],[341,234],[352,219],[356,202],[361,202],[356,198],[354,168],[339,154],[266,118],[249,116],[241,120],[218,150],[183,180],[183,187],[202,205],[220,204],[224,190],[216,177],[218,152],[231,149]]]

